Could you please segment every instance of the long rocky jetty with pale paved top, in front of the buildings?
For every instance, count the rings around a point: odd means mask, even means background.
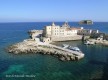
[[[36,42],[32,39],[24,40],[23,42],[11,45],[8,47],[9,53],[39,53],[48,54],[58,57],[62,61],[74,61],[84,57],[84,53],[62,48],[53,44],[44,42]]]

